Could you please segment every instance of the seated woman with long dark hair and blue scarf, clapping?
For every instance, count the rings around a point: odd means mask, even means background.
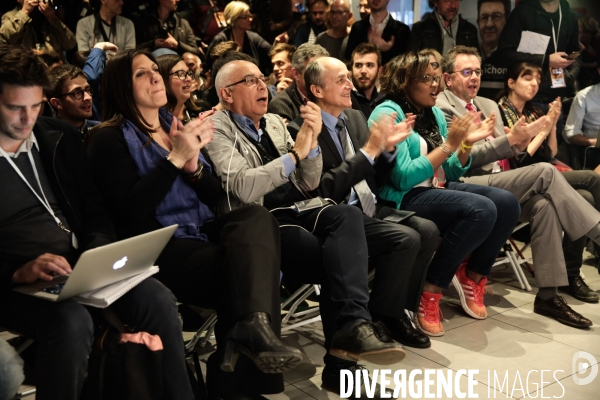
[[[147,51],[115,56],[102,92],[104,122],[88,147],[95,182],[121,238],[179,225],[157,260],[157,278],[179,301],[217,310],[208,389],[222,398],[283,391],[281,373],[301,353],[278,338],[279,226],[263,207],[218,218],[209,208],[222,194],[200,153],[212,140],[212,113],[183,126],[161,108],[165,85]]]

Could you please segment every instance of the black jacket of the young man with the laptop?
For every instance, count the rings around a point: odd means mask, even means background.
[[[46,117],[38,118],[33,132],[52,192],[79,242],[79,253],[114,241],[113,225],[94,186],[81,135],[72,125]],[[13,273],[29,261],[0,260],[0,292],[9,290]]]

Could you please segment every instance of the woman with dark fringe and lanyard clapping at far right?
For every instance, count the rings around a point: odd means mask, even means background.
[[[544,115],[531,102],[538,92],[541,79],[542,69],[536,64],[519,63],[508,70],[504,81],[504,96],[498,102],[505,126],[512,128],[520,118],[524,118],[526,123],[531,123]],[[525,167],[538,162],[553,164],[561,171],[569,185],[600,211],[600,175],[589,170],[573,171],[554,158],[558,151],[556,122],[561,108],[560,97],[557,97],[554,102],[550,103],[548,114],[546,114],[550,123],[529,143],[522,144],[522,147],[526,146],[526,151],[523,156],[512,158],[511,166],[513,168]],[[599,300],[598,294],[590,289],[580,277],[579,270],[583,262],[585,243],[586,236],[572,241],[568,235],[565,235],[563,252],[569,286],[562,289],[578,300],[596,303]],[[600,254],[600,247],[594,246],[596,252]]]

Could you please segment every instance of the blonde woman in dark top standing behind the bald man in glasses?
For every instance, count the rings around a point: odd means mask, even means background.
[[[271,58],[269,52],[272,46],[258,33],[252,32],[252,13],[250,6],[242,1],[232,1],[225,6],[223,12],[227,29],[216,35],[206,50],[206,65],[212,67],[212,48],[221,42],[232,40],[242,49],[242,53],[249,55],[258,62],[260,71],[269,75],[271,73]]]

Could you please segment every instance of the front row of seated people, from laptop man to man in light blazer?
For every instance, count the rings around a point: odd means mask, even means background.
[[[291,281],[320,283],[328,350],[322,380],[337,392],[340,371],[360,369],[358,360],[393,364],[405,356],[398,342],[431,346],[426,335],[444,332],[439,299],[450,281],[465,312],[485,318],[486,276],[518,218],[532,225],[541,287],[534,310],[572,326],[591,325],[556,294],[557,286],[569,282],[562,251],[541,243],[556,244],[563,229],[570,239],[599,241],[600,214],[549,164],[488,168],[500,158],[522,156],[532,138],[551,131],[556,111],[535,121],[521,118],[505,132],[495,103],[476,98],[481,70],[475,49],[456,47],[443,59],[430,51],[393,59],[382,74],[387,100],[367,123],[350,109],[353,85],[346,66],[318,46],[310,48],[300,54],[296,69],[303,71],[306,102],[288,126],[267,113],[268,89],[255,63],[219,66],[215,88],[223,110],[184,125],[173,113],[188,110],[185,62],[124,52],[104,71],[103,122],[87,148],[91,166],[73,127],[47,118],[36,123],[42,89],[49,86],[41,62],[22,49],[0,50],[0,115],[6,126],[0,147],[8,153],[3,159],[16,160],[28,182],[35,181],[34,170],[41,171],[40,191],[82,244],[73,248],[70,236],[10,170],[12,164],[0,163],[6,168],[0,176],[10,180],[4,183],[22,192],[2,200],[7,226],[2,297],[9,309],[0,311],[0,323],[53,347],[38,353],[38,373],[47,374],[38,383],[40,398],[56,397],[56,382],[64,382],[59,396],[77,398],[92,319],[74,301],[42,305],[11,292],[10,284],[68,273],[81,251],[114,239],[110,220],[117,238],[179,225],[158,260],[162,284],[149,279],[112,306],[127,324],[161,336],[168,354],[167,398],[193,398],[171,292],[217,309],[219,346],[209,358],[208,389],[231,398],[282,391],[281,372],[300,362],[301,353],[278,338],[279,271]],[[448,90],[438,96],[442,77]],[[78,89],[80,99],[85,89]],[[71,92],[66,97],[76,99]],[[444,99],[452,108],[444,107]],[[467,111],[472,107],[481,113]],[[38,162],[29,165],[18,157],[23,152]],[[316,195],[326,199],[322,207],[304,213],[290,208]],[[399,224],[382,221],[399,216],[402,208],[416,215]],[[33,223],[56,234],[31,246],[32,232],[17,226]],[[368,257],[375,265],[371,293]],[[145,317],[150,310],[152,318]],[[417,314],[419,330],[405,310]],[[72,335],[78,340],[67,343]],[[234,387],[232,380],[239,384]]]

